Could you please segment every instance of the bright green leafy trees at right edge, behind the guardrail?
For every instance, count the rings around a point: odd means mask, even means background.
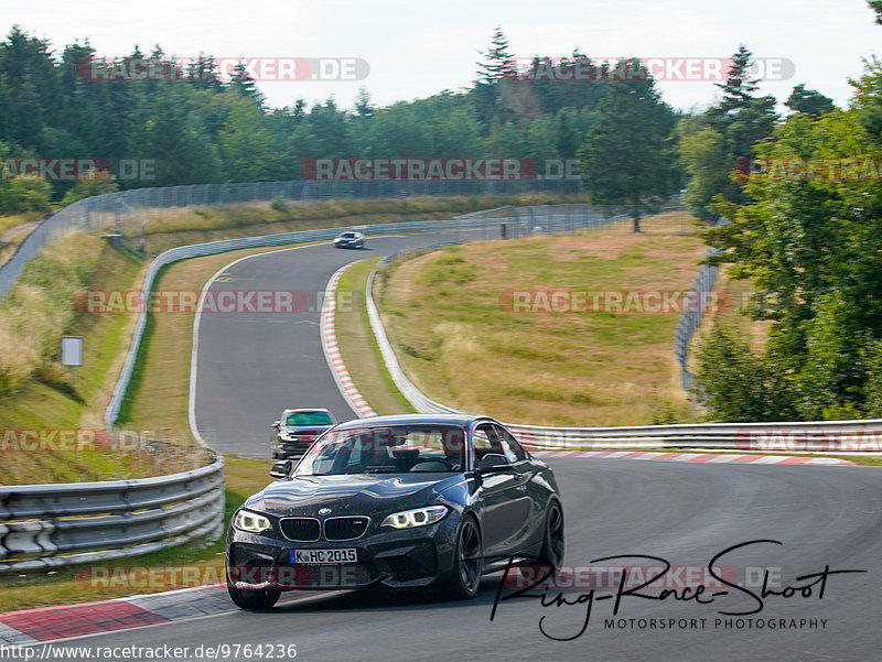
[[[873,375],[882,339],[882,158],[878,123],[882,69],[873,64],[854,83],[851,108],[814,119],[797,112],[756,145],[771,164],[743,178],[747,202],[714,209],[731,223],[706,231],[720,249],[711,262],[750,280],[745,314],[772,323],[763,351],[752,360],[774,373],[778,417],[854,417],[878,411]],[[808,160],[808,161],[806,161]],[[814,160],[814,161],[813,161]],[[788,164],[828,164],[826,171]],[[847,174],[829,164],[858,163]],[[778,169],[772,165],[778,164]],[[868,170],[868,165],[872,169]],[[718,379],[719,357],[701,359],[701,398],[713,402],[731,384]],[[757,382],[759,383],[759,382]],[[755,410],[744,408],[744,417]],[[750,420],[750,419],[747,419]]]

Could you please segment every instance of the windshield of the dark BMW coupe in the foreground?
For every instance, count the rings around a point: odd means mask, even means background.
[[[461,427],[438,425],[331,430],[303,456],[294,476],[462,471],[464,438]]]

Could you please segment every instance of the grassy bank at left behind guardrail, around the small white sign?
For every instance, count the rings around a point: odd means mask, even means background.
[[[22,431],[103,427],[129,319],[86,315],[74,307],[80,287],[130,289],[142,264],[103,239],[76,235],[33,260],[0,305],[0,482],[79,482],[155,475],[147,454],[55,452],[20,446]],[[84,366],[60,365],[60,337],[84,337]]]

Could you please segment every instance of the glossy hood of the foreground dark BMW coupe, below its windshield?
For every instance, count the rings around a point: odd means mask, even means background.
[[[334,516],[391,512],[430,503],[462,480],[462,474],[295,476],[268,485],[245,507],[277,517],[314,517],[320,508]]]

